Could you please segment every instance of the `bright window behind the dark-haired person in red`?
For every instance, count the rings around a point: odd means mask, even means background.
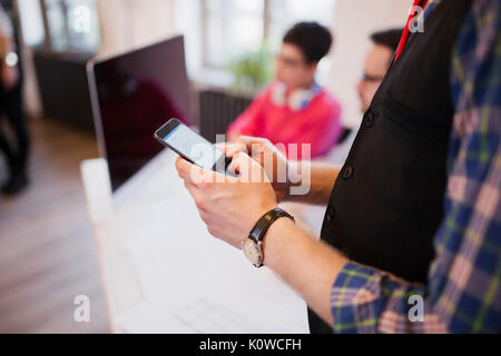
[[[267,40],[275,50],[295,22],[315,20],[331,26],[334,0],[202,0],[204,63],[225,67]],[[224,39],[224,40],[222,40]]]

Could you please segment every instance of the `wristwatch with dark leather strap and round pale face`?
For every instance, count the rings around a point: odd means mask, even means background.
[[[247,259],[254,265],[254,267],[263,267],[264,261],[264,248],[263,248],[263,239],[268,231],[268,228],[273,222],[278,220],[279,218],[289,218],[294,220],[294,217],[287,211],[276,208],[272,209],[257,220],[254,228],[248,234],[248,237],[242,241],[242,250]]]

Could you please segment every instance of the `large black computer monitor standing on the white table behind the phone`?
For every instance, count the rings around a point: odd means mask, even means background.
[[[190,125],[184,40],[169,40],[89,66],[96,131],[116,190],[163,147],[156,129]]]

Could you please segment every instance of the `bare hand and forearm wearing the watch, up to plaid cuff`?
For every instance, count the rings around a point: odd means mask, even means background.
[[[179,177],[185,180],[208,231],[242,248],[256,221],[276,208],[277,201],[266,172],[257,161],[239,152],[232,165],[237,165],[240,177],[204,170],[181,158],[176,161]],[[264,239],[264,264],[282,275],[331,324],[328,295],[332,281],[346,263],[341,254],[316,241],[288,219],[275,221]]]

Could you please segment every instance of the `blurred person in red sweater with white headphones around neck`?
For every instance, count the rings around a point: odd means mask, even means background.
[[[315,82],[318,62],[332,46],[330,30],[317,22],[298,22],[283,39],[275,63],[275,81],[257,96],[227,131],[263,137],[273,144],[311,144],[311,157],[327,154],[341,132],[341,106]]]

